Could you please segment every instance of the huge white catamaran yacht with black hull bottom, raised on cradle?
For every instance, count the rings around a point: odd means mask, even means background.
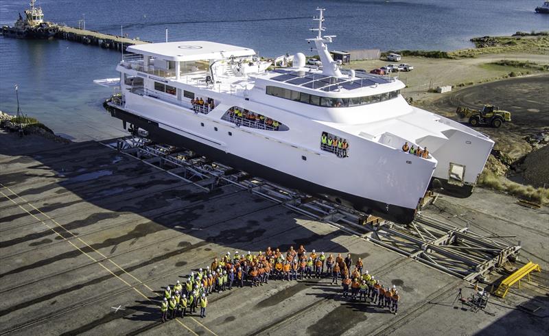
[[[430,187],[470,195],[493,141],[408,105],[395,78],[340,69],[319,11],[309,43],[322,67],[297,53],[267,71],[252,49],[207,41],[135,45],[110,112],[154,141],[400,223]]]

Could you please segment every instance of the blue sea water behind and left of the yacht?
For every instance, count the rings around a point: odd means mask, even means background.
[[[548,30],[536,14],[541,0],[40,0],[45,19],[152,42],[212,40],[251,47],[260,56],[313,54],[316,8],[325,12],[330,49],[432,49],[471,47],[474,36]],[[13,25],[27,0],[0,1],[0,24]],[[82,21],[81,21],[82,20]],[[93,80],[117,77],[117,51],[66,40],[0,37],[0,110],[21,110],[75,141],[127,134],[102,102],[112,92]]]

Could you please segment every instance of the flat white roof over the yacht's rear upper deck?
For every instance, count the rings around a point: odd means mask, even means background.
[[[253,49],[209,41],[180,41],[132,45],[128,51],[162,60],[186,62],[193,60],[222,60],[224,58],[255,55]]]

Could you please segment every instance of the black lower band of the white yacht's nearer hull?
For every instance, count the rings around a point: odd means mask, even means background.
[[[126,121],[130,124],[136,125],[143,130],[149,132],[148,138],[158,143],[167,143],[176,147],[184,147],[191,149],[192,151],[207,156],[212,160],[219,161],[225,165],[229,165],[235,169],[246,171],[252,176],[258,176],[265,178],[271,182],[281,184],[290,189],[298,189],[305,193],[309,193],[319,198],[330,200],[337,204],[355,208],[358,211],[368,213],[371,215],[382,217],[389,221],[395,221],[401,224],[410,223],[415,217],[415,209],[404,208],[402,206],[395,206],[392,204],[386,204],[375,200],[370,200],[364,197],[351,195],[335,189],[323,187],[319,184],[296,178],[288,173],[283,173],[276,169],[259,165],[250,160],[235,156],[234,154],[226,153],[220,149],[210,147],[204,143],[194,141],[180,134],[175,134],[168,130],[159,128],[158,123],[132,115],[126,111],[119,110],[117,108],[109,107],[110,114],[122,121]],[[418,200],[419,201],[419,200]]]

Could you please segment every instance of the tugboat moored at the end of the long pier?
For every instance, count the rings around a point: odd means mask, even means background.
[[[58,32],[58,25],[44,21],[42,8],[36,7],[36,0],[30,1],[30,8],[25,10],[25,18],[19,14],[19,19],[13,27],[3,26],[2,34],[12,38],[53,38]]]

